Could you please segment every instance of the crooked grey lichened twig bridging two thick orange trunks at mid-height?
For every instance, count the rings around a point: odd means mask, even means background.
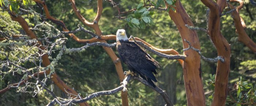
[[[222,56],[218,56],[218,57],[216,57],[216,58],[206,58],[206,57],[204,57],[204,56],[201,54],[201,52],[200,52],[199,49],[196,49],[196,48],[192,47],[192,46],[191,46],[191,43],[190,43],[189,41],[187,41],[186,39],[184,39],[184,41],[186,41],[186,42],[188,43],[189,47],[186,48],[186,49],[183,49],[183,51],[192,49],[192,50],[196,51],[196,52],[201,56],[201,58],[202,58],[204,61],[217,62],[217,61],[219,60],[219,61],[221,61],[222,63],[225,62],[225,60],[224,60],[224,58],[222,58]]]

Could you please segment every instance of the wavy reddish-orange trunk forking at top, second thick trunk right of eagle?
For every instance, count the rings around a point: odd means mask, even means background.
[[[218,0],[215,3],[212,0],[201,0],[204,5],[210,8],[208,32],[212,42],[214,43],[218,56],[222,56],[225,62],[218,61],[217,71],[215,77],[215,90],[212,106],[225,106],[227,97],[227,83],[230,72],[230,45],[221,34],[221,13],[224,8],[226,0]],[[220,3],[222,2],[222,3]]]

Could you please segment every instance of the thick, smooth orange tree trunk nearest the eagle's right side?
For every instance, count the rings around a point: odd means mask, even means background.
[[[174,8],[176,12],[169,10],[169,16],[176,24],[180,32],[183,41],[183,48],[188,48],[188,43],[183,40],[186,39],[187,41],[191,42],[191,45],[194,48],[200,50],[199,39],[196,31],[189,30],[185,26],[185,24],[194,26],[191,19],[184,10],[180,0],[176,0],[175,5],[176,7]],[[167,6],[168,5],[166,4],[166,7]],[[184,55],[187,56],[183,63],[183,74],[188,106],[205,106],[206,104],[200,69],[200,56],[194,50],[187,50],[184,52]]]

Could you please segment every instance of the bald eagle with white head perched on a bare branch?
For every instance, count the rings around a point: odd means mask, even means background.
[[[153,82],[157,82],[157,79],[154,74],[157,74],[156,70],[159,69],[160,64],[138,44],[129,41],[125,30],[117,30],[116,35],[116,48],[121,61],[128,66],[131,73],[138,74],[155,88]]]

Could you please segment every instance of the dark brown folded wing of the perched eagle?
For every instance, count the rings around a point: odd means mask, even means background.
[[[157,82],[152,72],[157,74],[156,69],[159,68],[159,63],[151,58],[145,50],[135,42],[123,42],[117,49],[121,60],[128,65],[129,69],[138,72],[146,80],[149,78]],[[153,83],[151,80],[148,81]]]

